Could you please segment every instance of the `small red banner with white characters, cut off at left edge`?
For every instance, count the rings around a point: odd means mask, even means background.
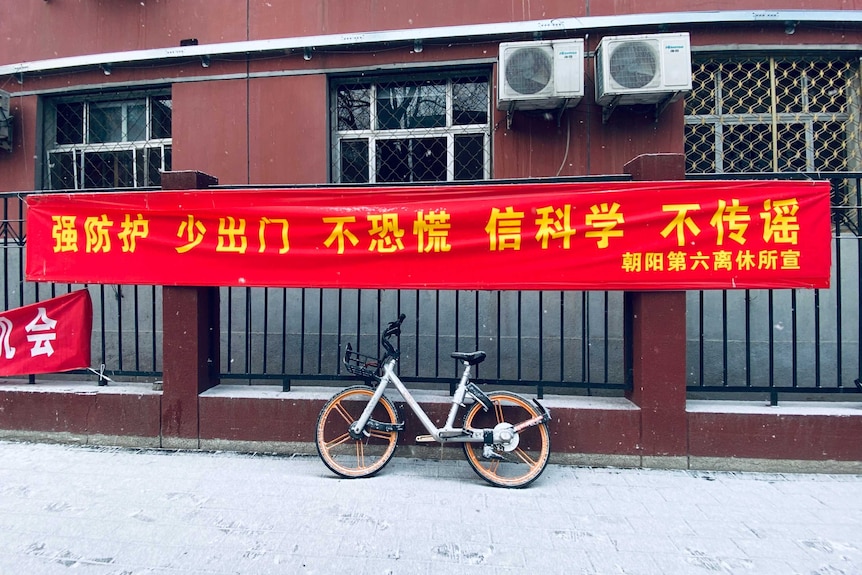
[[[0,313],[0,375],[89,367],[92,327],[86,290]]]

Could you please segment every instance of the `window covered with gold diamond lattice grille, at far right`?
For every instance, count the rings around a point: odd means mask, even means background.
[[[686,171],[859,170],[857,75],[850,60],[819,57],[695,62]]]

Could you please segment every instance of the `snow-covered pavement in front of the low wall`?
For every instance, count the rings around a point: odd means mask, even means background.
[[[0,441],[0,574],[858,574],[862,476],[465,461],[345,480],[315,457]]]

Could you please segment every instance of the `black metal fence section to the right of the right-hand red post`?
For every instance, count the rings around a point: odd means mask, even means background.
[[[754,392],[766,394],[773,403],[779,394],[798,399],[857,393],[855,381],[862,374],[862,174],[723,177],[831,182],[831,287],[690,292],[689,391]]]

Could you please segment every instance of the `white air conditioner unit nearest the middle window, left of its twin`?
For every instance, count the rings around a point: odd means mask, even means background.
[[[500,44],[497,108],[570,108],[584,97],[584,41]]]

